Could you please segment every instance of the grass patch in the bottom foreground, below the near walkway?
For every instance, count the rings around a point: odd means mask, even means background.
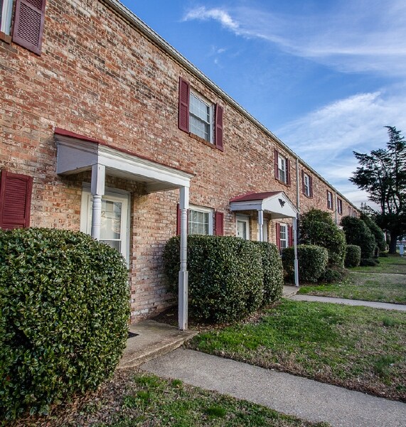
[[[285,416],[264,406],[167,381],[134,369],[117,371],[100,391],[48,417],[26,418],[13,427],[136,427],[136,426],[274,426],[328,427]]]

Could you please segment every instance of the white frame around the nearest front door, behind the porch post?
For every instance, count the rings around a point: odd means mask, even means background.
[[[106,188],[105,195],[102,198],[114,200],[123,203],[124,207],[124,225],[122,225],[122,250],[121,253],[129,265],[129,227],[130,227],[130,197],[129,192],[118,190],[116,188]],[[91,218],[89,220],[89,210],[92,209],[90,184],[83,183],[82,185],[82,200],[80,204],[80,231],[90,234],[92,228]],[[127,212],[126,212],[127,211]],[[89,223],[90,222],[90,223]]]

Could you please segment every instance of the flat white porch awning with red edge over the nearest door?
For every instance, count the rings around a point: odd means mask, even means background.
[[[144,183],[146,193],[189,187],[193,173],[181,171],[120,150],[96,139],[55,129],[58,144],[57,173],[72,175],[105,166],[107,175]]]

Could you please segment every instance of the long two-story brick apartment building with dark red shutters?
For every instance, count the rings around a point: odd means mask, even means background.
[[[0,227],[82,230],[116,247],[132,320],[173,304],[161,253],[180,229],[283,248],[297,212],[356,215],[119,1],[0,9]]]

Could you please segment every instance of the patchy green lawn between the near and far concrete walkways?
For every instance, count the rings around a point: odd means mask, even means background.
[[[210,330],[188,347],[406,400],[406,315],[284,300],[260,320]]]

